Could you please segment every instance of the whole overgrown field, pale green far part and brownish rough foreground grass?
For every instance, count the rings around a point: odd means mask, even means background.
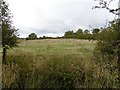
[[[115,88],[117,71],[95,60],[95,41],[24,40],[7,52],[4,88]],[[113,63],[116,65],[116,63]]]

